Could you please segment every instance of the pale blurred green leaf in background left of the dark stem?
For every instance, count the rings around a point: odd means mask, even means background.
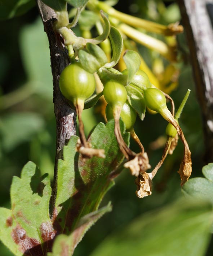
[[[29,86],[36,94],[52,101],[49,42],[40,18],[23,27],[19,41]]]

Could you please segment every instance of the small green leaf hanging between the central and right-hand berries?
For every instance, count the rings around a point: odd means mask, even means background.
[[[136,110],[140,119],[143,120],[146,113],[146,104],[143,100],[141,91],[132,84],[125,86],[125,88],[127,90],[127,100],[130,106]]]

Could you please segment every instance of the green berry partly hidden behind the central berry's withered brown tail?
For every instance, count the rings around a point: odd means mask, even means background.
[[[108,121],[114,118],[113,109],[112,107],[110,107],[109,104],[107,104],[106,106],[105,113]],[[128,101],[124,103],[120,113],[120,117],[126,126],[126,131],[131,131],[133,129],[134,123],[136,122],[137,114],[136,111],[132,107],[130,107]]]

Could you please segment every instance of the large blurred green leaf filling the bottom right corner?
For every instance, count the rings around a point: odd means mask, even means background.
[[[210,239],[212,209],[203,201],[179,201],[139,217],[108,237],[90,256],[201,256]]]

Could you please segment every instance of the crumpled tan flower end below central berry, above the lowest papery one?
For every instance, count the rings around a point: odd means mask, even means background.
[[[125,168],[129,168],[132,175],[138,177],[140,173],[146,172],[151,168],[147,153],[138,153],[132,160],[124,164]]]

